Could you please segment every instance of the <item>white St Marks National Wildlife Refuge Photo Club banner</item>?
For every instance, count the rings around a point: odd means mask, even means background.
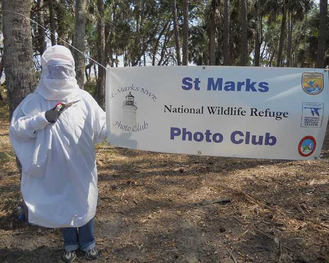
[[[328,112],[323,69],[156,66],[106,74],[107,140],[113,146],[316,159]]]

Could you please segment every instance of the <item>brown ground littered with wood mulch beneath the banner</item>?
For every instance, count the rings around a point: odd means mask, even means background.
[[[19,221],[20,174],[0,101],[0,262],[63,262],[59,229]],[[93,262],[329,262],[329,134],[321,160],[96,147]],[[88,262],[78,252],[75,262]]]

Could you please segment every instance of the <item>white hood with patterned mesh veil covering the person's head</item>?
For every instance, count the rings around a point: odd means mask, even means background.
[[[81,92],[76,80],[75,62],[70,50],[56,45],[41,57],[42,73],[36,93],[46,100],[67,102]]]

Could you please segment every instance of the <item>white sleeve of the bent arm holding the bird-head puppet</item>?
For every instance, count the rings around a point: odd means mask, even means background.
[[[50,122],[46,120],[45,112],[40,112],[35,116],[24,116],[18,118],[11,124],[16,136],[23,140],[36,137],[36,132],[44,129]]]

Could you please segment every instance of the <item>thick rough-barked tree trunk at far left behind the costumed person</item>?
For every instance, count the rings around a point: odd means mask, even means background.
[[[29,17],[30,9],[31,4],[26,0],[2,2],[4,67],[10,119],[14,109],[34,91],[36,84],[30,20],[22,16]]]

